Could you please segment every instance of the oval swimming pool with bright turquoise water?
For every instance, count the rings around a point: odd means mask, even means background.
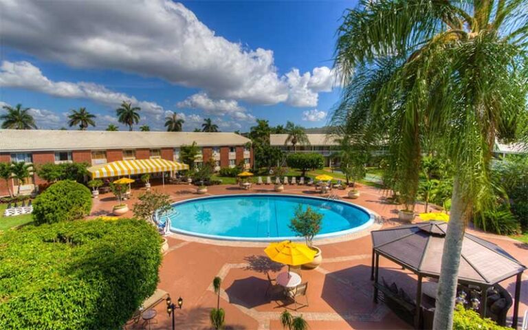
[[[164,214],[170,230],[212,239],[277,241],[302,239],[288,225],[298,205],[323,214],[317,238],[362,230],[373,223],[369,210],[344,201],[298,195],[223,195],[173,204]]]

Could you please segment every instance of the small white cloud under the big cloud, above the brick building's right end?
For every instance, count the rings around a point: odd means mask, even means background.
[[[250,122],[255,120],[254,116],[248,113],[236,100],[212,100],[203,92],[193,94],[176,105],[179,108],[200,109],[210,115],[230,115],[237,120]]]

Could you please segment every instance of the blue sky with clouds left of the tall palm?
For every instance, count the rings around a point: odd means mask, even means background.
[[[324,126],[340,96],[336,31],[354,5],[0,0],[0,105],[31,108],[41,129],[67,126],[79,107],[97,116],[91,129],[125,129],[123,100],[151,130],[172,113],[184,131],[204,118],[221,131],[256,118]]]

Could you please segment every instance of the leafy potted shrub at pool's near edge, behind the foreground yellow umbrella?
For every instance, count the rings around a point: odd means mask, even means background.
[[[314,236],[321,230],[322,214],[313,210],[310,206],[307,206],[306,210],[303,210],[303,206],[299,205],[295,210],[295,217],[292,219],[288,227],[296,232],[297,236],[303,236],[306,241],[306,245],[311,250],[316,251],[316,256],[311,263],[306,263],[303,268],[314,270],[322,262],[322,254],[320,248],[317,248],[312,243]]]

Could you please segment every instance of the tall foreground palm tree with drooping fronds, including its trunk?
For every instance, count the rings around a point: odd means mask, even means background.
[[[408,201],[424,147],[449,157],[452,207],[441,257],[434,329],[451,329],[465,223],[492,207],[496,138],[516,140],[525,120],[525,3],[362,1],[338,32],[344,86],[333,124],[388,144]],[[403,194],[402,194],[403,195]]]

